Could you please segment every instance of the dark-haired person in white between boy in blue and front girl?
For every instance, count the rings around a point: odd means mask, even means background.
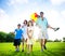
[[[24,52],[24,42],[25,41],[27,42],[27,20],[26,19],[24,20],[24,25],[22,26],[22,28],[24,29],[24,32],[23,32],[23,50],[22,50],[22,52]],[[26,44],[26,47],[27,47],[27,44]]]

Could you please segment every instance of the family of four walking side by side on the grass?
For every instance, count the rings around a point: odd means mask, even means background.
[[[40,15],[36,22],[36,26],[39,27],[40,32],[39,32],[39,40],[40,40],[40,46],[41,46],[41,52],[43,50],[47,50],[47,40],[48,40],[48,28],[53,29],[54,31],[58,30],[58,28],[53,28],[49,25],[47,18],[43,16],[44,13],[40,12]],[[21,28],[22,27],[22,28]],[[17,28],[14,30],[14,46],[15,51],[20,52],[20,45],[21,45],[21,40],[23,41],[22,45],[22,52],[24,52],[24,42],[26,42],[26,48],[29,52],[32,52],[32,38],[34,38],[34,23],[32,20],[24,20],[24,25],[21,26],[21,24],[17,25]]]

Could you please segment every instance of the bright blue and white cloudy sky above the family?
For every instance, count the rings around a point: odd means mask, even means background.
[[[44,12],[44,17],[58,31],[48,29],[50,40],[65,37],[65,0],[0,0],[0,31],[14,31],[17,24],[29,20],[31,13]],[[36,28],[37,29],[37,28]]]

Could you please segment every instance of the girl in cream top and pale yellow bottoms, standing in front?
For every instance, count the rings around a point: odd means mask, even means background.
[[[27,47],[28,47],[28,53],[32,52],[32,36],[34,36],[34,27],[32,27],[32,22],[28,22],[28,28],[27,28]]]

